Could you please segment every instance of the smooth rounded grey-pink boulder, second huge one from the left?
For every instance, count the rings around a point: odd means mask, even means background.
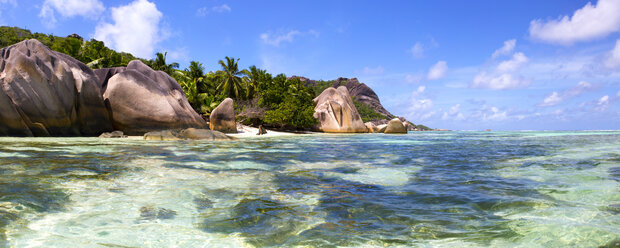
[[[179,83],[165,72],[154,71],[142,61],[134,60],[125,69],[97,73],[109,77],[107,82],[102,77],[100,83],[116,130],[142,135],[164,129],[206,127],[189,105]]]

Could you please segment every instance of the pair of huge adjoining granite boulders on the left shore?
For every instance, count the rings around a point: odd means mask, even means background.
[[[31,39],[0,49],[0,136],[205,128],[179,84],[139,60],[91,70]]]

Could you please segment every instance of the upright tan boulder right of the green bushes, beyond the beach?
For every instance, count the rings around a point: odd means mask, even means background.
[[[367,129],[344,86],[329,87],[314,99],[318,129],[327,133],[366,133]]]

